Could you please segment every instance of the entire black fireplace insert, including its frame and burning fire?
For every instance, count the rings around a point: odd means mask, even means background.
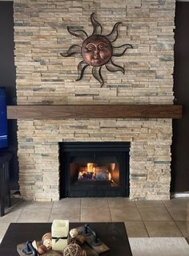
[[[60,142],[60,196],[129,196],[130,142]]]

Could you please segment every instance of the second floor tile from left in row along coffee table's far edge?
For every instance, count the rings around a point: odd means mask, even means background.
[[[18,218],[18,222],[48,222],[50,210],[24,209]]]

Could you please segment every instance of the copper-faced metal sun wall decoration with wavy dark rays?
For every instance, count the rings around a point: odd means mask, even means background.
[[[73,44],[66,53],[61,53],[63,57],[73,56],[80,53],[83,60],[78,64],[78,78],[80,81],[88,66],[92,66],[92,74],[94,78],[99,81],[101,87],[103,86],[103,76],[101,69],[103,65],[109,72],[121,71],[125,72],[124,68],[115,64],[112,61],[112,56],[120,57],[127,51],[128,48],[133,48],[131,44],[125,43],[121,46],[113,46],[112,43],[118,38],[118,27],[121,23],[115,23],[112,31],[108,35],[102,35],[103,28],[100,23],[94,19],[94,13],[90,15],[90,22],[93,26],[92,35],[88,36],[86,31],[81,29],[74,30],[67,27],[67,31],[79,39],[82,39],[82,46]]]

